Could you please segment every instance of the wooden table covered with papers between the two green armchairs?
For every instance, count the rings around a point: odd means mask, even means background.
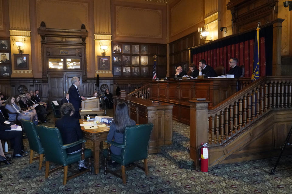
[[[79,119],[80,124],[83,124],[83,122],[86,122],[85,119]],[[105,123],[99,123],[98,125],[102,125]],[[106,124],[105,124],[106,125]],[[108,125],[106,125],[108,126]],[[103,149],[103,143],[100,147],[100,143],[103,142],[103,140],[106,140],[107,134],[109,133],[109,127],[99,127],[99,129],[84,129],[84,127],[81,127],[81,130],[83,132],[83,137],[86,139],[89,139],[93,143],[93,157],[94,157],[94,172],[95,174],[99,173],[99,149]]]

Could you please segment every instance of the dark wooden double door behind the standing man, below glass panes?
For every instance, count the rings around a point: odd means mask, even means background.
[[[82,85],[81,75],[82,72],[48,72],[49,101],[64,98],[72,85],[73,77],[78,77],[80,85]],[[80,91],[80,86],[78,86],[78,90]]]

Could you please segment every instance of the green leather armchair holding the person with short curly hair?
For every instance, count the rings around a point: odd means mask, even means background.
[[[73,142],[70,144],[63,144],[63,140],[61,137],[61,133],[58,128],[52,128],[47,126],[40,126],[36,125],[36,131],[40,136],[40,142],[43,144],[43,148],[45,150],[46,155],[46,173],[45,178],[47,179],[49,176],[49,173],[59,169],[60,167],[64,166],[64,180],[63,185],[66,185],[67,179],[74,178],[75,176],[78,176],[80,174],[83,174],[85,172],[91,172],[91,149],[84,149],[85,147],[85,139],[78,140],[77,142]],[[75,153],[75,154],[67,154],[66,149],[71,148],[73,146],[76,146],[78,144],[82,144],[82,151]],[[70,177],[67,177],[68,173],[68,165],[78,162],[81,159],[89,158],[89,169],[79,172],[77,174],[74,174]],[[50,162],[54,162],[57,164],[60,164],[62,166],[57,167],[53,170],[50,170]]]

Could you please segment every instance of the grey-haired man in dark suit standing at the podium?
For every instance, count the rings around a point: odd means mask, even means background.
[[[84,100],[85,98],[83,96],[80,96],[80,93],[78,91],[78,86],[80,85],[80,81],[78,77],[73,77],[71,79],[71,83],[72,85],[69,88],[68,93],[69,93],[70,103],[72,103],[75,109],[72,117],[74,117],[75,119],[80,119],[79,108],[81,105],[81,101]]]

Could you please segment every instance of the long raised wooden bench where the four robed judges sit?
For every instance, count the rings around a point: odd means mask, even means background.
[[[213,108],[235,94],[238,83],[234,78],[152,81],[149,99],[173,104],[173,119],[189,125],[189,100],[206,98],[208,108]]]

